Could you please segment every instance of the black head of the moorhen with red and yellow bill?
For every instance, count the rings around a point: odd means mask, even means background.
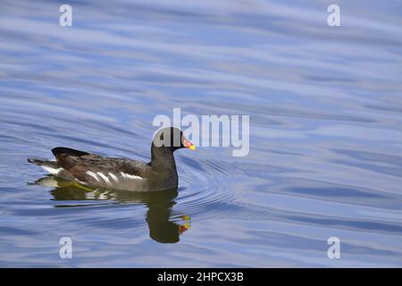
[[[152,144],[157,148],[171,149],[172,152],[180,148],[196,149],[193,143],[184,137],[183,132],[175,127],[156,131]]]

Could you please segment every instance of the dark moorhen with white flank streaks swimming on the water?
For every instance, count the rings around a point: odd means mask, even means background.
[[[55,161],[29,158],[28,162],[38,164],[58,178],[88,187],[131,191],[177,189],[179,178],[173,152],[183,147],[196,149],[181,130],[168,127],[155,133],[149,163],[68,147],[52,149]]]

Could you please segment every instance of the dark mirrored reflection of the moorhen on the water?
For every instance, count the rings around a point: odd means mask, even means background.
[[[176,204],[174,199],[178,196],[177,189],[155,192],[88,189],[88,187],[63,181],[54,176],[42,178],[36,183],[53,187],[54,189],[50,193],[55,200],[110,199],[121,203],[145,204],[148,208],[146,220],[149,227],[149,237],[157,242],[179,242],[180,234],[190,227],[190,218],[187,214],[172,213],[172,206]]]

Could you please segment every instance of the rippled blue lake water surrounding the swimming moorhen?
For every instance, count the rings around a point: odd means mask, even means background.
[[[69,4],[1,4],[1,266],[402,266],[400,1]],[[248,156],[180,150],[154,195],[35,184],[56,146],[148,160],[174,107],[250,115]]]

